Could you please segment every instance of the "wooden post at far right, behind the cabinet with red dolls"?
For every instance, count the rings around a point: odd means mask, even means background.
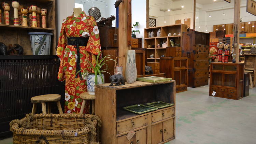
[[[237,33],[236,33],[237,31]],[[236,54],[236,63],[239,63],[239,34],[240,34],[240,0],[234,0],[234,24],[233,35],[236,34],[236,43],[234,43],[234,53]]]

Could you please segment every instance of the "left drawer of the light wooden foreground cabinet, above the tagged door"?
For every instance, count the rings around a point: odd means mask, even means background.
[[[122,121],[116,124],[116,131],[118,133],[126,132],[139,127],[143,127],[147,125],[147,116],[141,116],[134,119]]]

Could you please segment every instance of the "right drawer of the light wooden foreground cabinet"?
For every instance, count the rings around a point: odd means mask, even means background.
[[[174,108],[163,110],[152,114],[152,123],[155,123],[159,120],[172,117],[174,115]]]

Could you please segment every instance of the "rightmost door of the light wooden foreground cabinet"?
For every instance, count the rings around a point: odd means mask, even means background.
[[[163,122],[163,141],[173,138],[173,119]]]

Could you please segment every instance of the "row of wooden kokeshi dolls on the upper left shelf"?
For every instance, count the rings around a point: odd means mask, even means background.
[[[42,16],[42,28],[46,28],[46,14],[47,9],[41,9],[35,5],[28,6],[24,8],[19,2],[13,1],[13,25],[14,26],[29,26],[29,27],[40,27],[40,14]],[[1,9],[0,9],[0,24],[10,25],[10,5],[9,3],[2,2],[3,17],[4,21],[1,19]],[[28,15],[27,15],[28,14]]]

